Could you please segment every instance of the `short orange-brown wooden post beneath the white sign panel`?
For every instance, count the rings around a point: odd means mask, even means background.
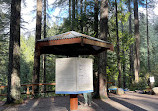
[[[70,94],[70,111],[78,110],[78,97],[77,94]]]

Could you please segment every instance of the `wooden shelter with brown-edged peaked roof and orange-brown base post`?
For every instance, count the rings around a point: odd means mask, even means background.
[[[113,50],[113,45],[109,42],[75,31],[38,40],[35,46],[35,54],[38,56],[35,60],[35,74],[39,75],[39,59],[41,54],[77,57],[79,55],[97,55],[105,50]],[[75,110],[77,107],[77,95],[70,94],[70,109]]]

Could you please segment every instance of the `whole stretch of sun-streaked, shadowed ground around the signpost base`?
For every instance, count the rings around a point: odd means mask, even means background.
[[[79,96],[78,111],[158,111],[158,96],[126,92],[124,95],[110,94],[109,99],[93,99],[92,106],[84,106]],[[2,106],[0,111],[69,111],[69,96],[28,99],[23,104]]]

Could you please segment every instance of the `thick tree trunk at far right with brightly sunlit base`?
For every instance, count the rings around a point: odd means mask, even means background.
[[[135,73],[135,82],[139,82],[139,69],[140,69],[140,59],[139,59],[139,19],[138,19],[138,1],[134,0],[134,34],[135,34],[135,60],[134,60],[134,73]]]

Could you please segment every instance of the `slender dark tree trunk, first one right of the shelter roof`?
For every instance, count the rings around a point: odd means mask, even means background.
[[[117,67],[119,71],[118,87],[121,87],[120,40],[118,35],[117,0],[115,0],[115,8],[116,8],[116,36],[117,36]]]

